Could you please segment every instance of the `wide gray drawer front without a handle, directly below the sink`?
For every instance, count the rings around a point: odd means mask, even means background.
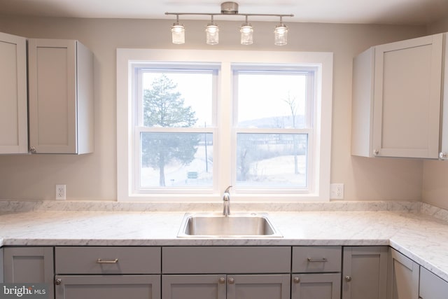
[[[165,274],[290,272],[288,246],[163,247]]]

